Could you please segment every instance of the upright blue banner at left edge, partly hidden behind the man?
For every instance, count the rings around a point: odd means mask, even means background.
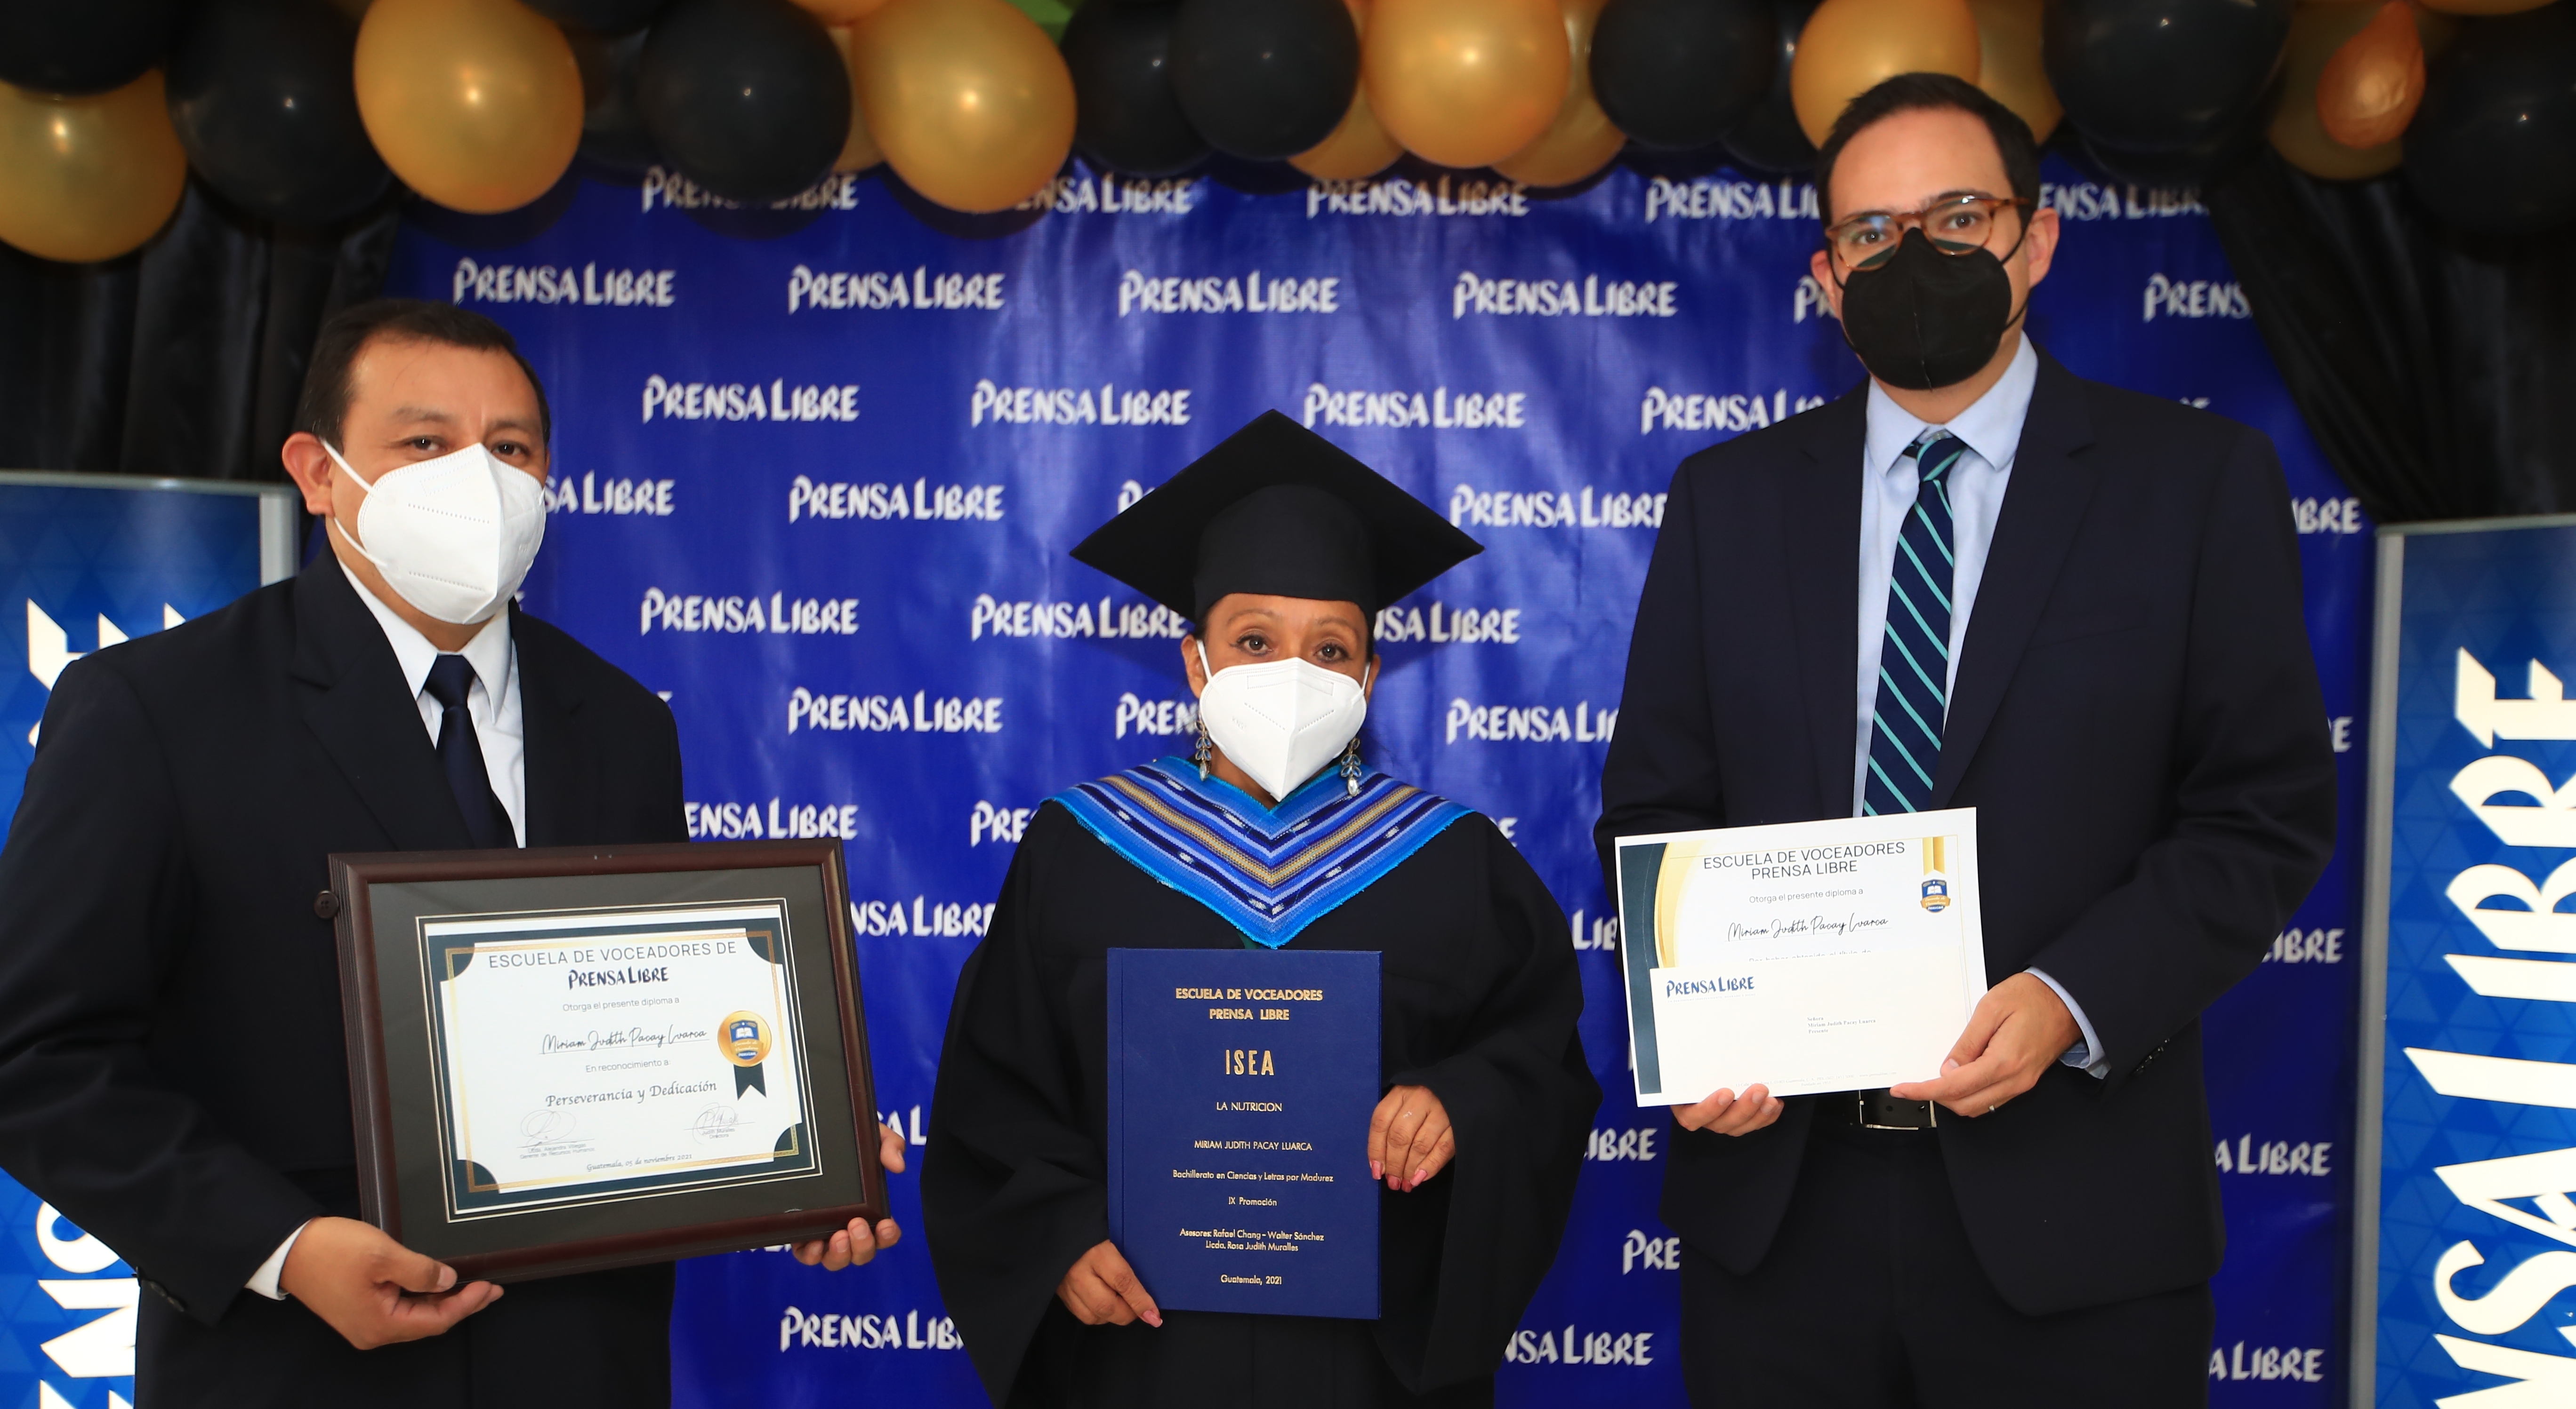
[[[0,804],[18,811],[36,721],[64,665],[204,616],[294,564],[283,487],[0,474]],[[44,904],[44,896],[0,896]],[[134,1270],[0,1175],[0,1406],[126,1409]]]

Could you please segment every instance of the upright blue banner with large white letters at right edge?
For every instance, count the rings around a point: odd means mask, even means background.
[[[2388,1409],[2576,1404],[2576,520],[2380,536],[2357,1339]],[[2385,881],[2378,881],[2385,876]]]

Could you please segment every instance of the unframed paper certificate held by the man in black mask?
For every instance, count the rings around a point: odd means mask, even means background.
[[[1986,994],[1976,809],[1618,840],[1638,1105],[1924,1082]]]

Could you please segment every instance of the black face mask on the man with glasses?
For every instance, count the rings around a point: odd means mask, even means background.
[[[2020,317],[2004,260],[1991,250],[1942,255],[1922,229],[1909,229],[1888,263],[1842,281],[1842,340],[1870,376],[1906,392],[1968,381]]]

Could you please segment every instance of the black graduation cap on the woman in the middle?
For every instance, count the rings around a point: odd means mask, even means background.
[[[1386,603],[1484,551],[1430,505],[1280,412],[1262,412],[1074,546],[1206,621],[1226,592]]]

